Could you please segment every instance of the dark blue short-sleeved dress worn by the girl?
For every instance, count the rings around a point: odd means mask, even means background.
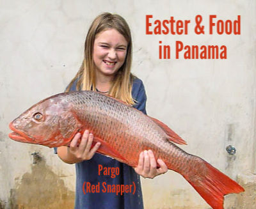
[[[76,82],[70,88],[70,91],[76,91]],[[132,84],[132,98],[137,102],[134,107],[147,114],[145,106],[147,96],[143,82],[135,78]],[[56,149],[55,149],[56,150]],[[103,171],[99,175],[99,164],[103,168],[118,167],[120,173],[111,178],[111,175],[104,175]],[[111,174],[111,173],[109,173]],[[113,176],[112,176],[113,177]],[[90,185],[100,185],[98,191],[88,190],[83,192],[84,182]],[[131,190],[127,190],[124,194],[120,192],[116,195],[115,190],[106,192],[102,185],[135,185]],[[92,187],[91,187],[92,188]],[[112,188],[112,187],[111,187]],[[131,188],[131,187],[130,187]],[[86,186],[85,186],[86,190]],[[76,164],[76,204],[75,209],[143,209],[143,199],[141,192],[140,176],[134,171],[131,166],[118,162],[115,159],[95,153],[90,160]]]

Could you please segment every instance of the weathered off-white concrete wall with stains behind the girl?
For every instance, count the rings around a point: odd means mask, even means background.
[[[254,208],[255,6],[249,0],[0,1],[0,208],[72,208],[74,166],[49,148],[11,141],[8,123],[63,91],[81,65],[86,32],[100,12],[119,13],[131,27],[132,72],[145,84],[148,114],[182,136],[184,150],[244,185],[246,192],[226,197],[225,208]],[[189,35],[145,35],[145,15],[193,21],[198,14],[205,27],[209,15],[241,15],[241,35],[195,35],[193,24]],[[159,41],[174,47],[177,40],[226,45],[227,59],[159,59]],[[225,151],[228,144],[236,155]],[[145,208],[209,208],[173,171],[142,182]]]

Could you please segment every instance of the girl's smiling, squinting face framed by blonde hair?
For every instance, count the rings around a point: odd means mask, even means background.
[[[114,76],[124,64],[127,41],[116,29],[108,29],[96,35],[93,45],[93,62],[96,73]]]

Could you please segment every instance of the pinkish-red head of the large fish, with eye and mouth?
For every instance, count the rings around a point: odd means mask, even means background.
[[[79,131],[81,124],[70,105],[61,98],[47,98],[20,114],[10,125],[9,137],[22,143],[65,146]]]

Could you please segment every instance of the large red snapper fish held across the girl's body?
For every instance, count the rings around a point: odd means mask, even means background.
[[[186,144],[170,128],[115,98],[94,91],[60,93],[33,105],[10,123],[9,137],[22,143],[67,146],[77,132],[90,130],[99,153],[136,167],[140,152],[152,150],[168,169],[176,171],[214,209],[223,196],[244,189],[205,160],[174,143]]]

